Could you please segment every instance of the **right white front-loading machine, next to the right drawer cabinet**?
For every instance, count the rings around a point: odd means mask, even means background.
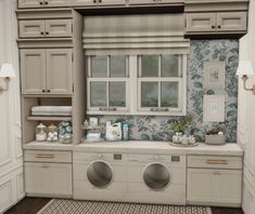
[[[186,204],[186,156],[129,155],[128,201]]]

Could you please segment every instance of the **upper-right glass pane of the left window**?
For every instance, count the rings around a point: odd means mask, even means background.
[[[111,56],[110,77],[126,77],[126,56]]]

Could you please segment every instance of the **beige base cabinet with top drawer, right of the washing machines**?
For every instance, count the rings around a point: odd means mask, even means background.
[[[189,204],[241,205],[241,157],[188,156],[187,174]]]

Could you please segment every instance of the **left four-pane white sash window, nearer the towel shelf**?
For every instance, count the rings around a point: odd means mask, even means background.
[[[89,111],[128,110],[128,57],[88,56],[87,91]]]

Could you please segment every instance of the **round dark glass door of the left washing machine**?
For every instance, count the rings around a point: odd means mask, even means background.
[[[94,161],[88,166],[87,177],[93,186],[103,188],[111,184],[113,171],[107,163]]]

